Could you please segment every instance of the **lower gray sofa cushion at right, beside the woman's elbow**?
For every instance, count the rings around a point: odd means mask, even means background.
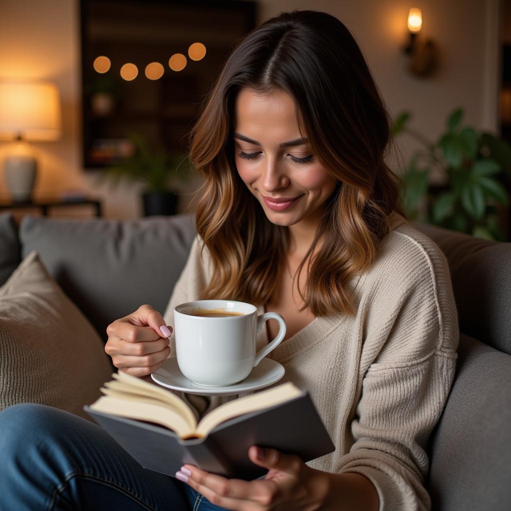
[[[509,509],[510,424],[511,355],[461,335],[456,378],[432,435],[432,509]]]

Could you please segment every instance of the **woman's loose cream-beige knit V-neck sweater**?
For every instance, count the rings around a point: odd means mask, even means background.
[[[274,385],[308,390],[335,445],[308,466],[363,474],[376,486],[380,510],[429,510],[425,449],[454,378],[458,318],[443,252],[401,215],[390,221],[375,264],[350,283],[356,315],[316,317],[269,356],[286,369]],[[210,278],[200,246],[197,236],[164,313],[172,327],[174,307],[198,299]],[[267,343],[263,328],[257,349]],[[172,334],[170,356],[174,346]],[[176,393],[198,417],[238,397]]]

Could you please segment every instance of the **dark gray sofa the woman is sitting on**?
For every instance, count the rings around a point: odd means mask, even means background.
[[[413,225],[449,261],[460,331],[457,373],[433,431],[433,509],[511,509],[511,243]],[[110,322],[164,312],[195,236],[192,216],[119,221],[0,215],[0,285],[31,250],[106,341]]]

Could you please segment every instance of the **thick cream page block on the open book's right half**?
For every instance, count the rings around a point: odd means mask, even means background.
[[[283,383],[268,390],[261,390],[249,396],[228,401],[202,417],[197,425],[199,436],[207,435],[220,423],[238,415],[262,410],[301,396],[303,392],[291,382]]]

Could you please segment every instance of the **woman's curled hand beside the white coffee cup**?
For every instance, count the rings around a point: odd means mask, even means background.
[[[105,352],[115,367],[132,376],[150,375],[170,354],[172,327],[167,327],[150,305],[141,305],[132,314],[116,319],[106,333]]]

